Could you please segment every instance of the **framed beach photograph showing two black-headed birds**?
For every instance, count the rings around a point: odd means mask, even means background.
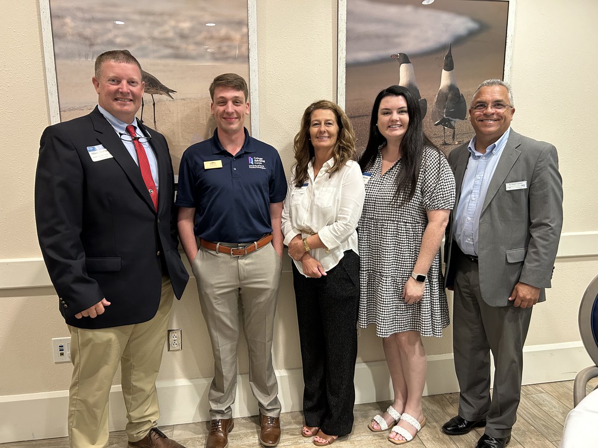
[[[380,90],[419,99],[426,135],[445,154],[468,142],[480,82],[509,81],[515,0],[339,0],[338,103],[367,144]]]

